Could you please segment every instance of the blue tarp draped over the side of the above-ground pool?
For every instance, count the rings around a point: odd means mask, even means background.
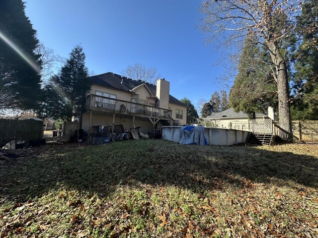
[[[203,126],[187,125],[180,128],[180,144],[207,145]]]

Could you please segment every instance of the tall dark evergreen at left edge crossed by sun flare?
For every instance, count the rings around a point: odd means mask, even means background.
[[[21,0],[0,1],[0,109],[37,109],[41,100],[39,56],[34,54],[39,42],[24,8]]]

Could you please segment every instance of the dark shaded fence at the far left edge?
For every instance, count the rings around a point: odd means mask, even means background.
[[[34,140],[43,138],[43,120],[0,119],[0,145],[10,140]]]

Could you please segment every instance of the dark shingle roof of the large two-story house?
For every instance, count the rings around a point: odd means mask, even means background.
[[[156,95],[157,86],[155,84],[148,83],[148,82],[145,82],[142,80],[133,80],[131,78],[127,78],[127,77],[124,77],[124,76],[121,76],[119,74],[112,73],[112,72],[94,75],[94,76],[89,77],[89,79],[91,80],[91,82],[93,84],[99,84],[99,85],[102,85],[105,87],[114,88],[114,89],[122,90],[122,91],[126,91],[126,92],[130,92],[130,90],[132,90],[133,88],[135,88],[143,83],[146,83],[146,85],[148,86],[150,91],[154,95]],[[183,106],[183,107],[187,107],[187,105],[180,102],[178,99],[176,99],[175,97],[173,97],[171,95],[169,95],[169,102]]]

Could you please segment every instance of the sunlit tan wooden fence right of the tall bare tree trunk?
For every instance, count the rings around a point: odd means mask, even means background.
[[[318,120],[293,120],[292,127],[294,139],[318,142]],[[275,127],[275,134],[279,134],[279,127]]]

